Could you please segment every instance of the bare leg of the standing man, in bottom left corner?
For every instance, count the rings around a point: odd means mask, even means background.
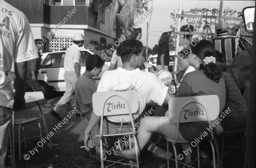
[[[0,168],[5,168],[4,160],[8,147],[8,124],[10,120],[0,126]]]

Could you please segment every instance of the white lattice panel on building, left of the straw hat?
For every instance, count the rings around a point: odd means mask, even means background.
[[[71,37],[49,38],[49,52],[59,51],[62,48],[69,48],[72,45]]]

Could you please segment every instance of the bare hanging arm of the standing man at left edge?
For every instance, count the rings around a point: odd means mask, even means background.
[[[26,79],[27,79],[27,68],[28,62],[17,62],[14,63],[15,68],[15,76],[18,84],[17,92],[15,94],[15,106],[26,106],[25,102],[25,87],[26,87]]]

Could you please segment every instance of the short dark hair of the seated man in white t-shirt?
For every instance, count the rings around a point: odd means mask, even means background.
[[[142,51],[142,42],[136,39],[125,40],[116,48],[116,53],[121,56],[122,63],[130,62],[133,54],[138,56]]]

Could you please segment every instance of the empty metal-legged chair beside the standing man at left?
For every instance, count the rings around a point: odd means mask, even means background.
[[[47,134],[49,134],[48,129],[47,129],[47,125],[46,125],[46,122],[45,122],[45,119],[44,119],[44,114],[43,114],[43,111],[41,109],[41,105],[39,104],[39,103],[45,101],[44,94],[42,92],[26,92],[24,98],[25,98],[25,101],[26,101],[26,106],[31,105],[31,104],[37,104],[38,105],[39,116],[38,117],[34,117],[34,118],[27,118],[28,110],[26,109],[26,114],[25,114],[25,116],[23,118],[14,118],[15,112],[12,112],[12,122],[10,123],[10,125],[12,125],[12,138],[13,138],[12,139],[12,150],[13,150],[12,154],[13,154],[14,165],[15,165],[14,125],[19,125],[19,129],[18,129],[18,143],[19,143],[19,159],[20,160],[21,160],[21,157],[20,157],[20,153],[21,153],[20,152],[20,145],[23,142],[23,140],[24,140],[25,148],[26,148],[26,139],[31,139],[31,138],[35,138],[35,137],[41,137],[41,139],[42,139],[41,125],[40,125],[40,123],[38,121],[39,119],[41,119],[41,118],[43,119],[46,132],[47,132]],[[32,123],[34,121],[38,122],[40,136],[26,138],[23,125],[27,124],[27,123]],[[21,126],[22,126],[22,129],[23,129],[23,135],[24,135],[22,140],[20,140],[20,127]],[[48,136],[48,138],[49,138],[49,143],[50,143],[50,149],[52,150],[52,141],[51,141],[49,136]],[[42,149],[44,149],[44,146],[42,146]]]

